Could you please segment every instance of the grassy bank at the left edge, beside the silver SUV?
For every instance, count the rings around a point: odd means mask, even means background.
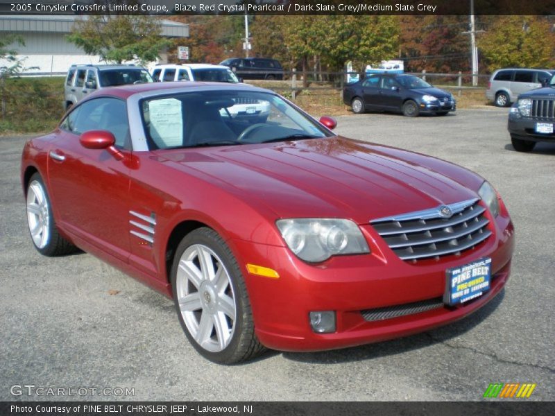
[[[8,78],[0,100],[0,134],[45,132],[52,130],[64,114],[62,77]]]

